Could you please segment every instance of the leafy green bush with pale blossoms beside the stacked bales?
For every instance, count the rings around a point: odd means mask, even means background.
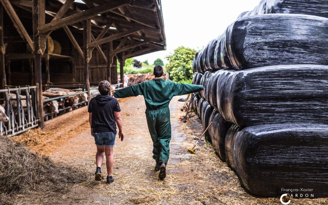
[[[166,56],[168,64],[166,64],[166,71],[170,73],[170,79],[178,82],[183,80],[190,80],[193,78],[193,59],[196,51],[191,48],[183,46],[174,50],[174,53]]]

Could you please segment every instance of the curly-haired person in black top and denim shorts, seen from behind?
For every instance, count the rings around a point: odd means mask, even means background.
[[[96,172],[95,180],[101,180],[101,164],[106,154],[107,183],[112,183],[113,172],[113,146],[116,136],[116,124],[118,127],[118,137],[123,141],[122,119],[120,115],[120,106],[117,99],[108,95],[111,91],[110,83],[103,80],[98,87],[100,95],[90,100],[88,112],[89,123],[91,126],[91,135],[94,137],[97,146],[96,153]],[[115,124],[116,122],[116,124]]]

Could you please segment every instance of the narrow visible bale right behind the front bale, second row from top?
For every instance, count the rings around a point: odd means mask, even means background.
[[[226,31],[217,39],[217,44],[214,51],[214,68],[217,70],[222,68],[232,68],[225,47],[225,42]]]

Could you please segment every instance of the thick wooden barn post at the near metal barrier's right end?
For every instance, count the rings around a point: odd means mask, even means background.
[[[39,2],[40,1],[40,2]],[[41,76],[41,53],[39,51],[39,3],[44,3],[44,0],[33,0],[32,7],[32,21],[33,21],[33,42],[34,42],[34,71],[35,71],[35,85],[39,87],[37,94],[37,110],[39,117],[39,127],[44,128],[43,119],[43,101],[42,101],[42,76]]]

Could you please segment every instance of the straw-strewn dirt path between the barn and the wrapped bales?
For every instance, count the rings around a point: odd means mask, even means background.
[[[159,181],[158,172],[154,171],[143,97],[133,97],[120,103],[125,139],[121,142],[117,137],[115,141],[112,184],[94,181],[96,148],[90,129],[83,122],[85,118],[81,122],[86,127],[81,125],[82,130],[75,135],[72,132],[68,141],[48,149],[54,161],[81,167],[89,176],[87,181],[61,195],[60,204],[280,204],[279,199],[247,194],[236,174],[220,161],[211,145],[201,142],[196,154],[187,152],[202,128],[197,116],[187,123],[179,122],[183,115],[180,111],[183,102],[178,102],[179,98],[174,97],[170,104],[172,140],[165,180]],[[102,172],[103,176],[107,174],[105,163]],[[295,201],[294,204],[305,204],[301,199]],[[311,201],[322,203],[320,199]]]

